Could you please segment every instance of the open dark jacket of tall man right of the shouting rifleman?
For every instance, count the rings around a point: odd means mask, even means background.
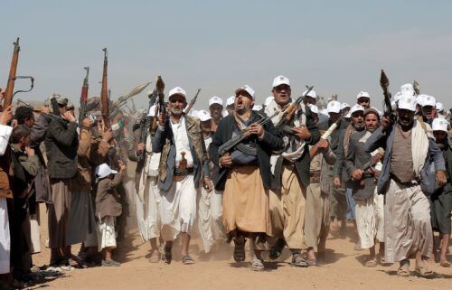
[[[306,141],[305,152],[301,157],[295,162],[295,167],[297,168],[297,173],[303,186],[307,187],[309,185],[309,166],[311,164],[311,156],[309,155],[309,145],[315,145],[320,140],[320,132],[315,125],[314,119],[311,114],[309,107],[305,107],[306,114],[306,127],[311,133],[311,138]],[[282,175],[282,165],[284,162],[284,157],[279,156],[277,164],[275,165],[275,177],[272,181],[271,188],[279,189],[281,188],[281,175]]]

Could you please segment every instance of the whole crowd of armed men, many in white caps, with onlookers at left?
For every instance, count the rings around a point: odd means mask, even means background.
[[[312,88],[297,103],[284,76],[270,89],[262,106],[245,85],[224,103],[212,97],[208,110],[187,112],[186,93],[176,87],[165,110],[155,104],[128,122],[118,110],[111,123],[125,126],[115,130],[105,129],[99,108],[89,112],[94,119],[76,120],[60,95],[52,96],[59,112],[2,108],[1,285],[33,283],[41,202],[49,267],[64,270],[71,260],[120,266],[114,249],[126,235],[127,159],[137,162],[137,224],[151,263],[170,264],[180,239],[182,262],[193,264],[189,246],[199,234],[211,255],[232,241],[237,262],[246,260],[248,241],[256,271],[286,247],[293,267],[314,267],[325,258],[330,229],[343,235],[353,220],[356,248],[369,249],[365,267],[399,263],[398,275],[410,276],[414,257],[419,275],[433,276],[426,260],[436,256],[449,267],[452,147],[441,103],[406,84],[394,95],[392,115],[373,108],[365,91],[353,106],[333,99],[320,110]]]

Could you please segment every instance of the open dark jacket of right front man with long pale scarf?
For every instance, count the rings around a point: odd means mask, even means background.
[[[414,121],[413,127],[414,126],[419,126],[418,121]],[[367,152],[373,152],[379,147],[385,150],[383,167],[381,168],[380,178],[377,183],[377,192],[379,194],[385,194],[388,191],[391,181],[391,155],[392,145],[394,143],[394,131],[394,126],[391,126],[384,132],[381,131],[381,127],[379,127],[372,133],[372,136],[367,139],[364,145],[364,150]],[[436,142],[430,138],[428,138],[428,154],[426,159],[433,160],[436,171],[446,171],[443,153],[438,148]],[[425,164],[427,165],[429,163],[426,162]],[[427,167],[428,166],[424,166],[424,168],[421,169],[421,172],[429,170]]]

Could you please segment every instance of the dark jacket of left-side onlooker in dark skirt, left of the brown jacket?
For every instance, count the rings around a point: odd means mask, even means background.
[[[64,125],[52,119],[45,136],[50,178],[72,178],[77,173],[79,137],[74,122]]]

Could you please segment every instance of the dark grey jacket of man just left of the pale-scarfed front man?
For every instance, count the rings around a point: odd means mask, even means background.
[[[362,169],[364,164],[372,159],[372,155],[364,150],[364,143],[360,139],[367,133],[367,130],[356,132],[350,137],[347,156],[344,160],[345,170],[349,176],[357,169]],[[367,200],[375,192],[375,177],[363,174],[359,181],[350,181],[352,184],[353,198],[358,201]]]

